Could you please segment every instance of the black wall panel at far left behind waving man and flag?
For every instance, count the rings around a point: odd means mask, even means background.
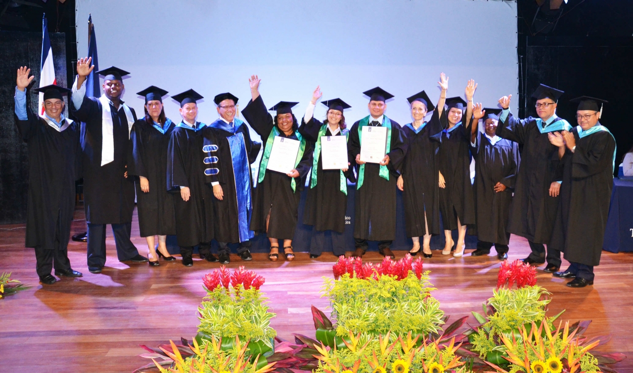
[[[49,33],[53,47],[57,82],[66,87],[66,37]],[[13,121],[16,71],[31,68],[32,87],[39,87],[42,54],[41,32],[0,32],[0,224],[24,223],[27,216],[27,144]],[[31,109],[37,111],[37,95],[27,95]]]

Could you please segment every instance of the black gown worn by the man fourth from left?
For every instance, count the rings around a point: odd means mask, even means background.
[[[196,128],[205,126],[196,122]],[[213,135],[208,133],[208,135]],[[214,236],[213,190],[206,184],[202,130],[180,122],[172,130],[167,147],[167,191],[172,193],[176,216],[176,235],[180,247],[208,243]],[[214,178],[214,180],[217,180]],[[180,186],[191,196],[186,202]]]

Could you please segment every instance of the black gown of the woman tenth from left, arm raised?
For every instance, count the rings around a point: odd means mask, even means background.
[[[442,124],[446,114],[442,114]],[[437,168],[444,176],[446,188],[439,188],[439,209],[444,230],[475,224],[475,197],[470,182],[470,132],[463,124],[452,131],[440,131],[433,136],[439,142]],[[438,175],[439,178],[439,175]]]

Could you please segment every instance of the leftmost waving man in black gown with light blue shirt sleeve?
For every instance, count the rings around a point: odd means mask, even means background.
[[[69,89],[48,85],[44,114],[27,107],[30,69],[18,69],[15,89],[15,124],[28,144],[28,203],[26,247],[35,248],[37,276],[42,284],[57,281],[51,275],[80,277],[68,260],[70,224],[75,211],[75,180],[80,176],[79,126],[64,117],[63,93]]]

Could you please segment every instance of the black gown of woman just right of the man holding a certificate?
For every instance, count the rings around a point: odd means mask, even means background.
[[[413,126],[411,124],[411,126]],[[429,122],[418,133],[409,125],[403,128],[407,152],[404,157],[402,178],[404,183],[404,226],[406,236],[420,237],[427,234],[424,212],[431,235],[439,235],[439,174],[436,157],[439,143],[431,136],[442,130],[439,115],[434,111]]]

